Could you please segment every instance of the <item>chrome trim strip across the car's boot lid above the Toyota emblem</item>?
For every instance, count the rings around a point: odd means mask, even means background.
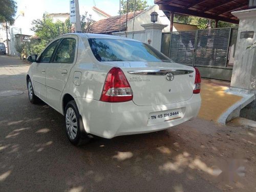
[[[193,70],[139,70],[139,71],[128,71],[134,75],[166,75],[167,73],[173,73],[174,75],[184,75],[193,73]]]

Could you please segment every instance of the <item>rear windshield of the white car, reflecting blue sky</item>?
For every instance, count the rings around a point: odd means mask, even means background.
[[[88,40],[94,56],[99,61],[172,61],[153,47],[139,41],[111,38]]]

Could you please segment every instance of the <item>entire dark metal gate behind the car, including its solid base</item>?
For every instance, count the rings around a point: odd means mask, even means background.
[[[175,62],[197,67],[202,77],[230,81],[237,31],[216,28],[163,33],[161,51]]]

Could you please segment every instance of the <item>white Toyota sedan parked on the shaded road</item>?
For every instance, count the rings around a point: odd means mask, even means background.
[[[29,100],[39,98],[64,115],[75,145],[92,135],[164,130],[195,118],[200,109],[198,69],[137,40],[65,34],[28,60]]]

